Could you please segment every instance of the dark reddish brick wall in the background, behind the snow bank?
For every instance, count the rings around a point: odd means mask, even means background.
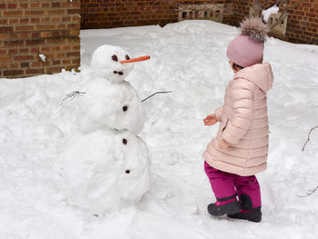
[[[292,5],[298,0],[288,1]],[[154,1],[154,0],[81,0],[82,29],[109,28],[130,25],[165,25],[178,21],[177,5],[224,4],[231,9],[234,15],[224,15],[224,24],[238,25],[244,15],[249,14],[253,0],[223,0],[223,1]],[[275,1],[263,0],[265,8],[273,5]],[[284,40],[293,43],[318,45],[318,1],[303,0],[301,5],[289,11],[287,31]],[[277,36],[277,35],[276,35]]]

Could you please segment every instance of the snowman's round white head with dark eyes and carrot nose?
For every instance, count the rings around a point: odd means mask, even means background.
[[[106,78],[112,83],[120,83],[133,70],[131,62],[140,60],[131,59],[121,47],[115,45],[101,45],[93,54],[91,66],[94,75]]]

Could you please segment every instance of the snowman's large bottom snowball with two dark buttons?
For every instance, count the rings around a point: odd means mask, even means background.
[[[128,131],[73,135],[55,162],[68,204],[92,214],[137,203],[149,190],[149,153]]]

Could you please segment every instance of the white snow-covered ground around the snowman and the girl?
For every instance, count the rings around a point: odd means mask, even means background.
[[[217,131],[203,119],[221,105],[232,79],[225,52],[239,29],[209,21],[81,31],[82,69],[99,45],[120,45],[137,63],[128,79],[143,99],[146,123],[140,136],[152,154],[151,189],[142,201],[95,217],[65,202],[53,165],[75,123],[81,74],[62,72],[0,79],[0,238],[317,238],[318,46],[270,38],[264,61],[273,66],[268,94],[270,152],[258,174],[263,221],[253,224],[211,217],[214,201],[202,153]],[[75,101],[76,99],[74,99]]]

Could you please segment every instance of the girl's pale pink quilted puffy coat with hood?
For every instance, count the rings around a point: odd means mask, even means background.
[[[204,151],[208,164],[242,176],[266,169],[269,130],[266,92],[272,86],[273,72],[268,63],[243,68],[234,75],[226,87],[224,105],[215,110],[221,124]],[[221,139],[230,147],[219,149]]]

